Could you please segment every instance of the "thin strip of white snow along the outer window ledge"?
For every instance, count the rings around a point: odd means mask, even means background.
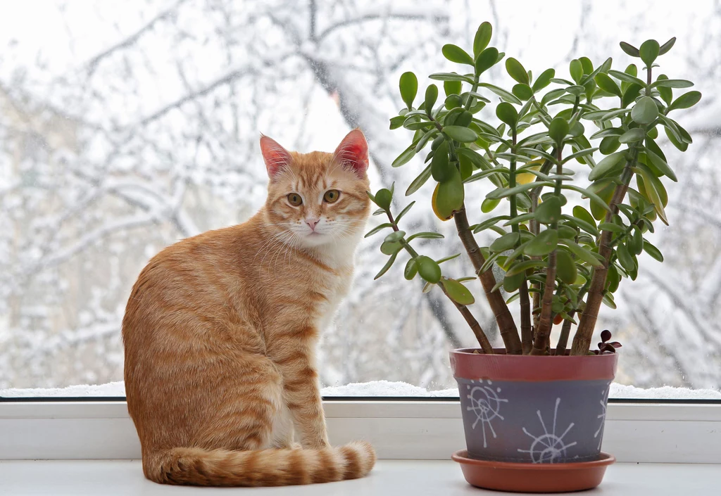
[[[458,397],[458,389],[428,389],[404,382],[370,381],[328,386],[321,390],[324,397]],[[107,384],[68,386],[65,388],[0,389],[0,398],[92,398],[124,397],[123,381]],[[714,389],[688,389],[671,386],[641,389],[624,384],[611,384],[609,398],[617,399],[721,399],[721,391]]]

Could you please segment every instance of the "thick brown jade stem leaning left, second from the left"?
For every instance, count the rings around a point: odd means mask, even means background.
[[[454,221],[456,222],[458,236],[466,249],[466,253],[468,253],[468,256],[471,259],[476,275],[483,285],[486,298],[498,324],[500,336],[503,338],[505,351],[508,355],[521,355],[521,338],[518,337],[516,322],[513,322],[513,316],[510,314],[508,305],[505,304],[500,291],[493,291],[493,286],[495,286],[496,283],[493,272],[488,269],[484,273],[481,273],[481,267],[485,264],[486,260],[476,243],[476,239],[473,237],[473,233],[470,229],[468,229],[469,225],[468,217],[466,216],[466,205],[463,205],[461,210],[456,212],[454,215]]]

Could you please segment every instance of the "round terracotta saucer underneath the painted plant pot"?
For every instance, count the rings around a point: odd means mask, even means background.
[[[509,492],[571,492],[601,484],[606,467],[616,459],[601,453],[598,460],[571,464],[521,464],[468,458],[456,451],[451,459],[461,464],[466,481],[476,487]]]

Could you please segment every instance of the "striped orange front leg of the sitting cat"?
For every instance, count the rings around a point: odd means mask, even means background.
[[[329,446],[325,415],[312,351],[303,343],[284,346],[274,361],[283,375],[283,399],[293,417],[296,435],[304,448]]]

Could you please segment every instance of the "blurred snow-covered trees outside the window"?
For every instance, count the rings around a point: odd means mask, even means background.
[[[711,0],[3,2],[0,389],[122,379],[120,321],[138,272],[168,244],[262,205],[261,132],[331,151],[360,126],[373,188],[405,190],[421,168],[390,167],[408,141],[388,129],[398,77],[415,71],[423,91],[426,74],[454,69],[441,45],[470,46],[484,20],[492,45],[563,77],[579,56],[625,67],[620,40],[678,37],[661,70],[696,81],[704,98],[678,112],[689,152],[662,144],[679,177],[667,185],[671,226],[651,235],[666,261],[642,257],[597,330],[624,344],[621,384],[720,389],[721,2]],[[509,83],[502,67],[490,81]],[[477,222],[487,185],[473,186]],[[417,197],[407,229],[453,234],[430,213],[428,185]],[[325,331],[322,382],[453,387],[447,352],[473,345],[472,333],[439,291],[402,278],[403,263],[374,282],[378,242],[358,250],[352,294]],[[454,236],[420,246],[436,258],[461,251]],[[463,257],[448,268],[472,273]],[[472,311],[500,342],[487,306]]]

